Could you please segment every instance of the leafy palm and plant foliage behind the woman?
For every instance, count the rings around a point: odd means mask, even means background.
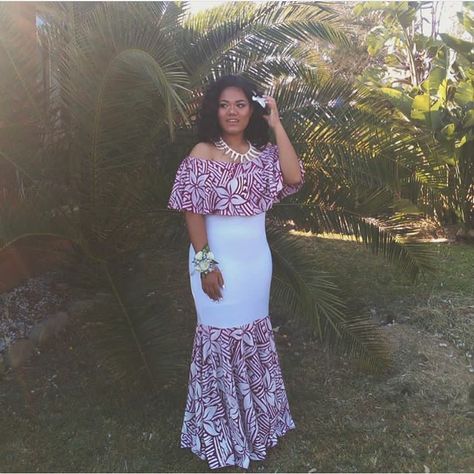
[[[355,12],[366,14],[370,3]],[[386,39],[407,28],[420,4],[376,3]],[[426,40],[430,74],[396,88],[374,80],[383,77],[380,58],[357,77],[334,74],[327,58],[353,47],[340,6],[237,2],[194,15],[186,2],[24,8],[41,19],[37,39],[26,41],[14,28],[18,12],[0,5],[8,71],[0,78],[8,175],[0,257],[34,236],[70,243],[74,278],[107,295],[89,317],[112,382],[144,380],[158,392],[184,373],[192,331],[170,322],[175,290],[164,276],[185,261],[188,241],[166,203],[194,141],[203,87],[227,73],[276,98],[307,170],[304,189],[268,215],[272,302],[360,367],[390,365],[379,328],[345,305],[287,224],[352,236],[412,281],[433,270],[433,255],[416,241],[420,218],[454,215],[472,227],[472,58],[464,43]],[[382,47],[369,44],[368,64]],[[460,58],[447,63],[452,49]],[[148,269],[135,265],[143,254]],[[176,281],[187,281],[186,269]]]

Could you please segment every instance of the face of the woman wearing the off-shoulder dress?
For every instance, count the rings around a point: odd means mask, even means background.
[[[224,134],[238,135],[244,132],[252,116],[253,108],[244,91],[238,87],[226,87],[217,104],[217,118]]]

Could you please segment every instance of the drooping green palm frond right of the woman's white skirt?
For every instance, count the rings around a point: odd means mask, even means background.
[[[304,242],[274,225],[267,235],[274,264],[272,301],[283,304],[293,320],[331,350],[359,358],[361,367],[381,371],[390,366],[384,334],[373,321],[350,314],[333,277],[318,269]]]

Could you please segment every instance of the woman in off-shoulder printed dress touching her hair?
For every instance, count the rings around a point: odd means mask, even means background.
[[[247,469],[295,428],[269,315],[265,213],[301,188],[304,168],[275,100],[255,91],[238,76],[210,85],[199,143],[181,162],[168,203],[185,212],[197,312],[181,447],[211,469]]]

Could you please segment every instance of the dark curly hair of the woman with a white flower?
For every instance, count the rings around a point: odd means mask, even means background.
[[[253,113],[244,132],[244,137],[256,148],[262,149],[269,141],[269,126],[263,118],[264,109],[252,101],[253,91],[262,95],[260,89],[242,76],[222,76],[212,82],[206,89],[201,107],[197,115],[197,135],[200,142],[212,143],[219,139],[221,128],[217,118],[219,97],[226,87],[242,89],[253,106]]]

